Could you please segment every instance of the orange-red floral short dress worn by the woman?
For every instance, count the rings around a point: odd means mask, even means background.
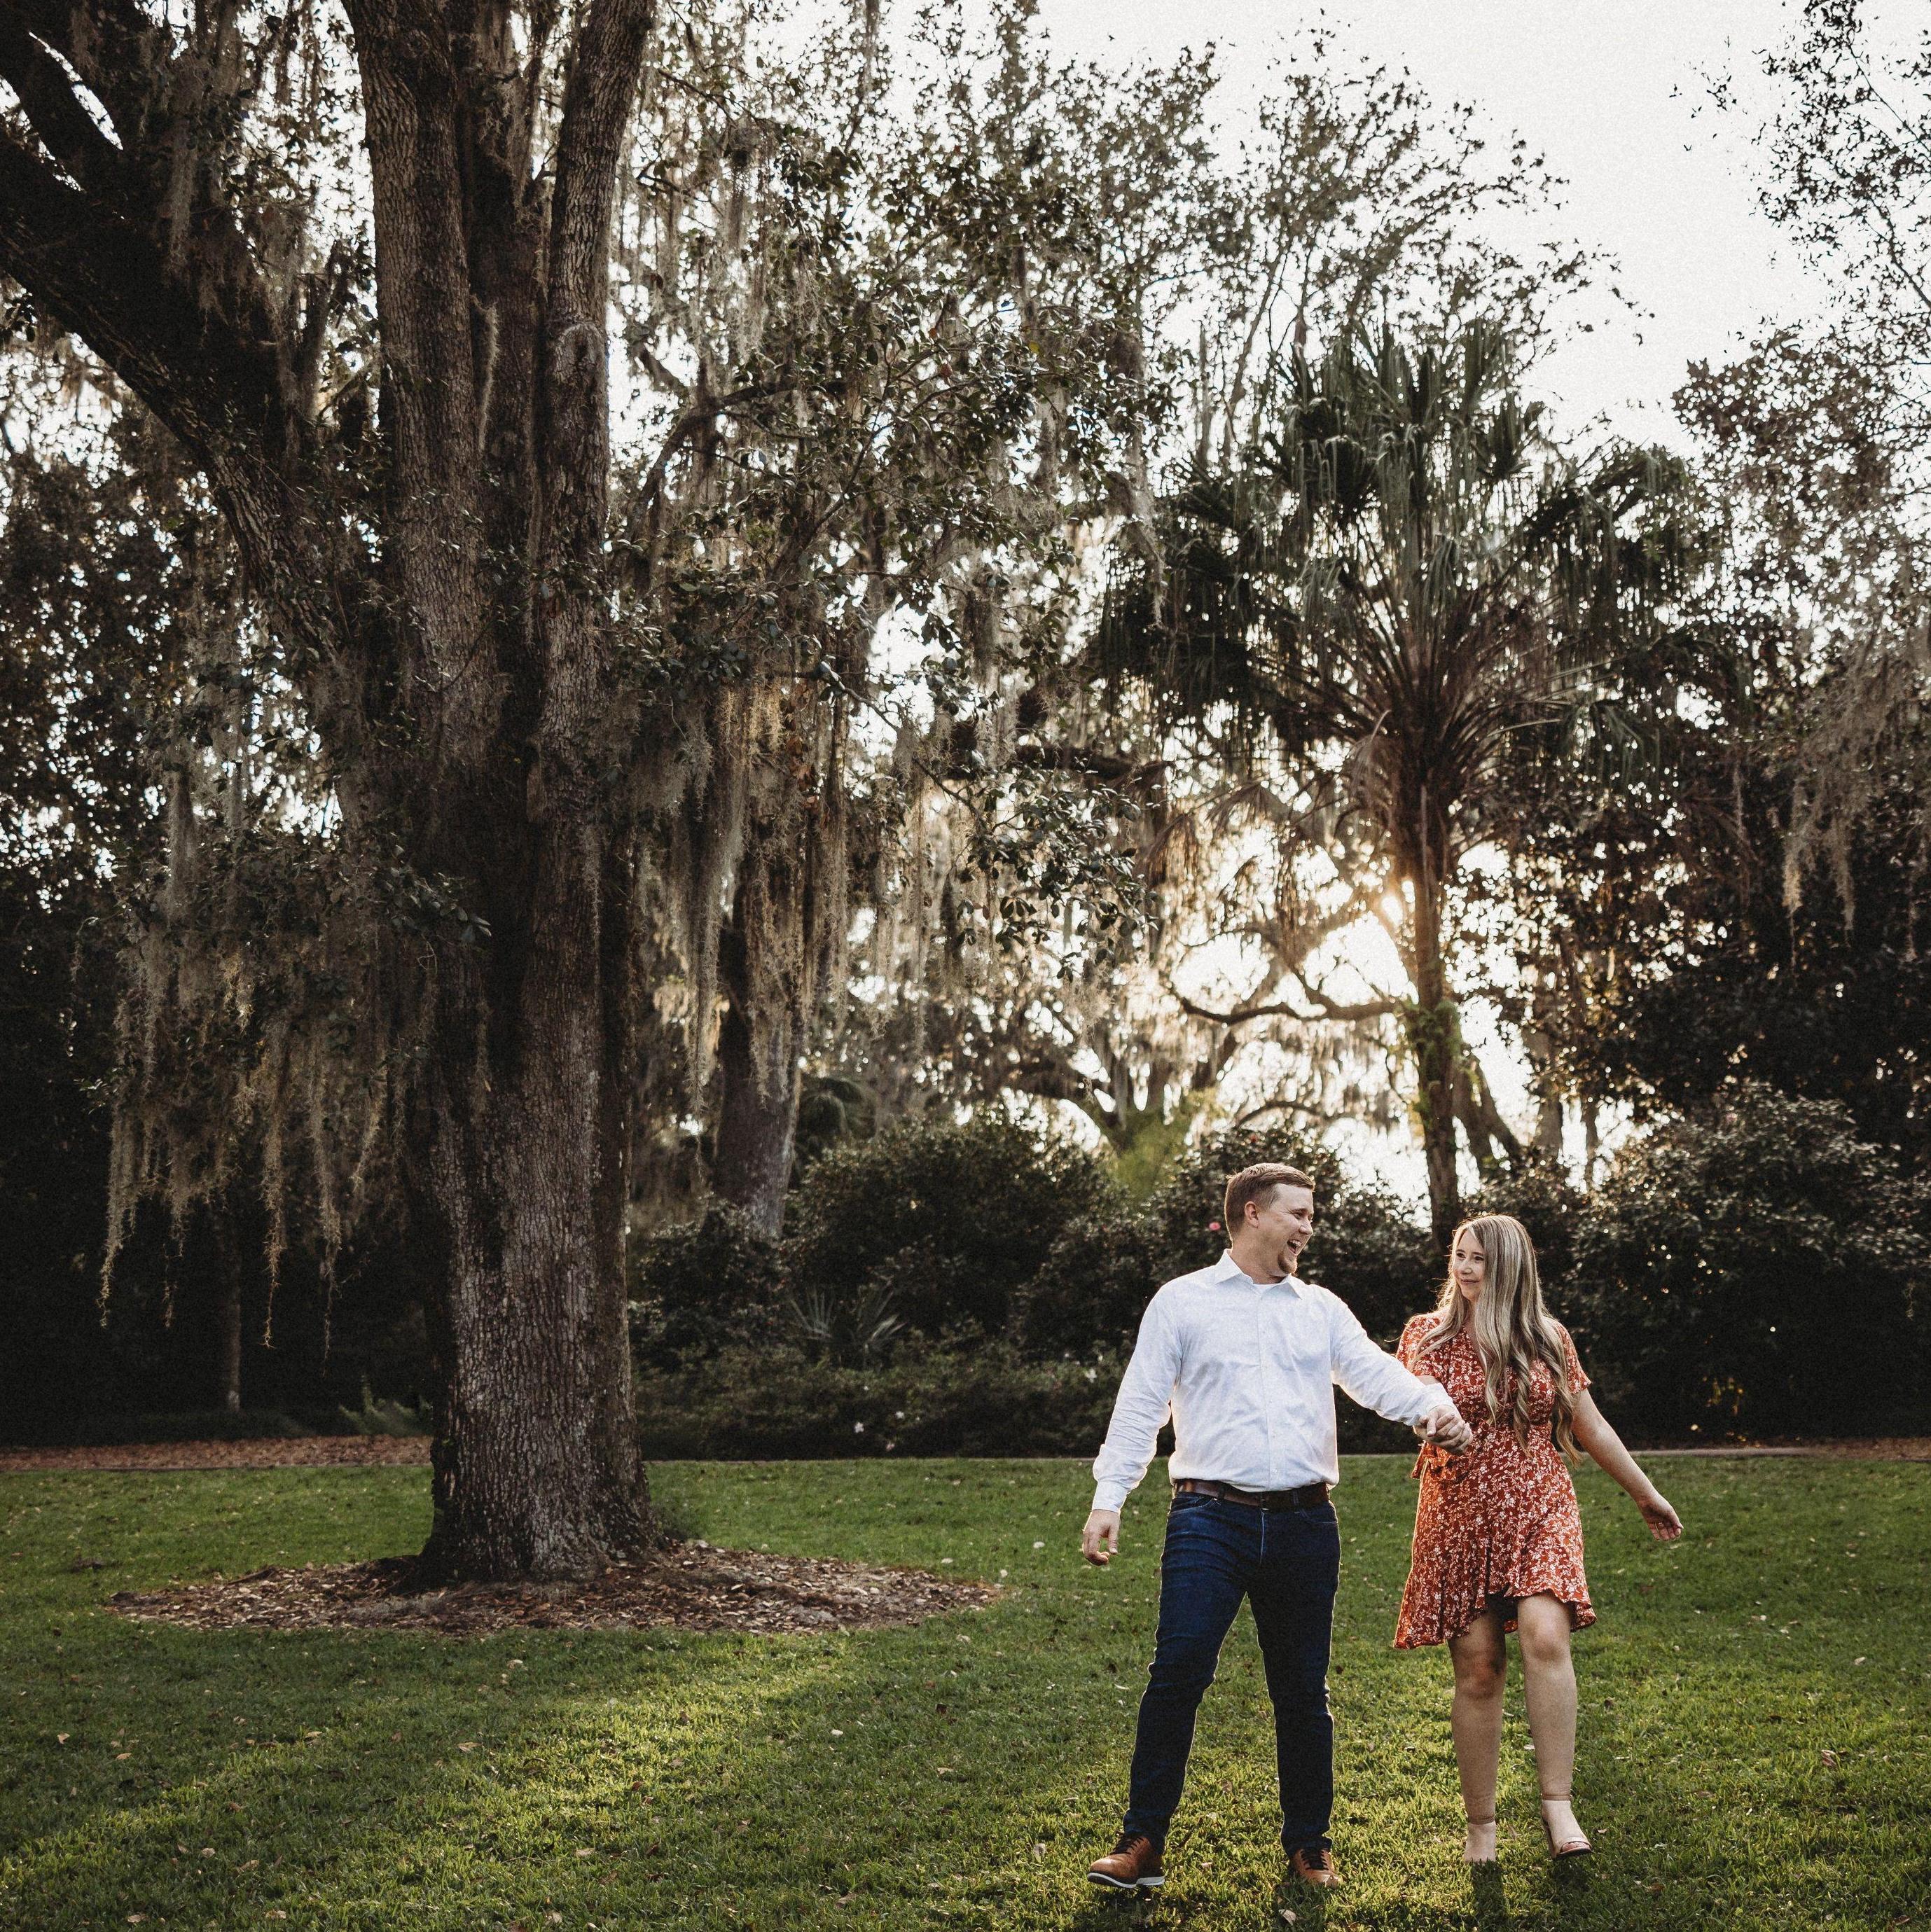
[[[1415,1553],[1396,1648],[1440,1644],[1469,1627],[1490,1598],[1548,1592],[1570,1605],[1570,1627],[1595,1623],[1583,1577],[1583,1522],[1575,1484],[1552,1434],[1556,1387],[1537,1362],[1529,1381],[1529,1439],[1519,1441],[1510,1420],[1512,1391],[1502,1389],[1502,1418],[1488,1414],[1488,1385],[1475,1337],[1463,1329],[1432,1349],[1421,1339],[1434,1316],[1415,1316],[1401,1331],[1398,1354],[1417,1376],[1432,1376],[1475,1443],[1459,1457],[1425,1445],[1415,1459],[1421,1495],[1415,1499]],[[1570,1393],[1589,1387],[1570,1331],[1562,1331]],[[1513,1607],[1513,1605],[1510,1605]],[[1504,1629],[1513,1631],[1510,1617]]]

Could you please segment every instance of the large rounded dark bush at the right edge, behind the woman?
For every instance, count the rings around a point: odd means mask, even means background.
[[[1927,1408],[1931,1184],[1844,1107],[1740,1088],[1618,1159],[1564,1312],[1618,1422],[1647,1434],[1869,1432]]]

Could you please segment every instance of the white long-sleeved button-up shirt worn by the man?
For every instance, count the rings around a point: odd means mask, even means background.
[[[1094,1509],[1119,1509],[1173,1416],[1169,1476],[1241,1490],[1338,1482],[1334,1383],[1390,1422],[1448,1397],[1369,1341],[1338,1294],[1289,1275],[1254,1281],[1231,1254],[1169,1281],[1140,1316],[1113,1420],[1094,1459]]]

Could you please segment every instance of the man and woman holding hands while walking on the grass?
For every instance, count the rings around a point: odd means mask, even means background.
[[[1140,1698],[1127,1814],[1088,1878],[1115,1891],[1164,1884],[1195,1712],[1214,1681],[1241,1600],[1274,1702],[1282,1849],[1320,1889],[1340,1886],[1328,1841],[1334,1721],[1328,1634],[1341,1538],[1328,1490],[1340,1470],[1334,1383],[1423,1437],[1415,1549],[1396,1646],[1448,1644],[1454,1743],[1467,1810],[1465,1857],[1496,1857],[1504,1633],[1515,1631],[1542,1830],[1554,1857],[1589,1851],[1575,1822],[1575,1669],[1570,1631],[1595,1623],[1583,1530],[1566,1453],[1593,1457],[1635,1501],[1651,1534],[1682,1534],[1589,1397],[1568,1329],[1542,1308],[1535,1250],[1510,1215],[1455,1231],[1434,1310],[1396,1354],[1369,1341],[1347,1304],[1295,1275],[1314,1229],[1314,1184],[1280,1163],[1227,1182],[1227,1252],[1169,1281],[1146,1306],[1094,1461],[1090,1563],[1119,1548],[1119,1509],[1173,1418],[1173,1505],[1160,1557],[1160,1631]]]

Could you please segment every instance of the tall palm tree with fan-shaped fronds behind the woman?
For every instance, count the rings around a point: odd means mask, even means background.
[[[1245,458],[1164,504],[1158,568],[1121,558],[1102,667],[1243,777],[1326,788],[1370,833],[1409,980],[1403,1034],[1436,1235],[1459,1211],[1455,1113],[1483,1105],[1444,923],[1527,732],[1589,715],[1591,665],[1676,580],[1678,469],[1541,433],[1486,323],[1295,355]],[[1492,1113],[1492,1109],[1490,1109]]]

